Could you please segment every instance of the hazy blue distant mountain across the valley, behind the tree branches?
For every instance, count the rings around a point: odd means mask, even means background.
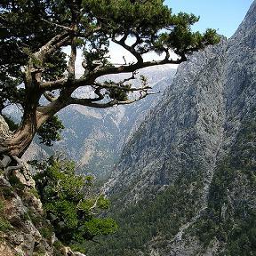
[[[62,109],[58,114],[65,125],[61,140],[54,143],[51,148],[34,142],[24,157],[42,158],[60,151],[76,161],[79,172],[92,172],[99,178],[107,177],[121,155],[124,141],[128,140],[130,133],[136,130],[148,111],[156,105],[165,88],[172,83],[175,72],[176,69],[170,65],[141,69],[137,77],[146,76],[148,84],[153,86],[153,92],[160,93],[149,95],[147,99],[129,106],[96,109],[76,105]],[[127,74],[121,74],[107,78],[119,81],[126,76]],[[139,85],[140,82],[136,80],[132,83]],[[81,94],[86,95],[90,92],[87,88],[82,88],[76,93],[81,97]],[[16,111],[17,109],[11,108],[7,114],[19,116]]]

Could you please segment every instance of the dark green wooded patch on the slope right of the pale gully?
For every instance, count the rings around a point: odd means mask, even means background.
[[[214,237],[225,244],[221,255],[256,253],[256,111],[244,116],[236,143],[212,179],[207,212],[196,223],[197,236],[208,246]],[[195,231],[195,230],[194,230]]]

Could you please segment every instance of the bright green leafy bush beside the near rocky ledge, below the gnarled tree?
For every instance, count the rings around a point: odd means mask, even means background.
[[[97,217],[108,210],[109,201],[102,195],[93,196],[91,176],[76,176],[73,162],[53,156],[37,163],[37,168],[36,188],[47,219],[62,243],[83,243],[116,231],[115,220]]]

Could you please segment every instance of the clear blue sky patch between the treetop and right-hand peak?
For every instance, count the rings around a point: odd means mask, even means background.
[[[218,33],[228,38],[232,36],[244,20],[253,0],[165,0],[172,12],[188,12],[200,16],[193,30],[203,32],[205,28],[218,29]]]

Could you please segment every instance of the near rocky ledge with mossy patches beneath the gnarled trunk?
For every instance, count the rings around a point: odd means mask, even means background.
[[[9,127],[0,116],[0,140],[9,135]],[[3,161],[0,161],[0,255],[83,256],[58,244],[27,164],[19,160],[20,167],[11,162],[14,165],[5,168]]]

